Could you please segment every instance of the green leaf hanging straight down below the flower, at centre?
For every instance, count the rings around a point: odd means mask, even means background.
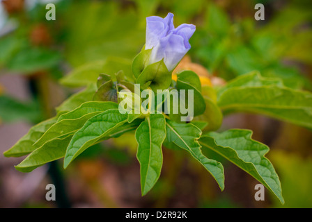
[[[142,196],[157,182],[162,170],[162,143],[166,137],[164,115],[150,114],[135,133],[139,144],[137,159],[140,162]]]

